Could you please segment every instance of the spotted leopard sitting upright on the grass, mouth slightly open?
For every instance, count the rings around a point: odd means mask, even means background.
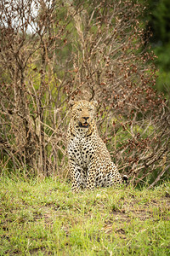
[[[104,141],[99,137],[95,115],[98,102],[70,102],[71,119],[67,131],[67,153],[72,191],[94,190],[122,184],[123,178]]]

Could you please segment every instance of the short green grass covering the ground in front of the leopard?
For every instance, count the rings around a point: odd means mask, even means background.
[[[170,183],[71,192],[0,180],[0,255],[169,255]]]

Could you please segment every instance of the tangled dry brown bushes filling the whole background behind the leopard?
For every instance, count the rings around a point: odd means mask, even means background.
[[[1,1],[1,175],[67,179],[68,102],[83,98],[131,183],[169,177],[169,6]]]

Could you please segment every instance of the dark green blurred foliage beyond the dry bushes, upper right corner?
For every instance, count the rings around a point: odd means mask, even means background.
[[[157,59],[159,69],[156,87],[168,96],[170,88],[170,2],[168,0],[147,0],[145,18],[148,20],[146,31],[150,31],[151,49]]]

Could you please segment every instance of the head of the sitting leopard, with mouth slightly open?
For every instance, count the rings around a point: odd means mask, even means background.
[[[82,101],[71,101],[71,119],[74,121],[74,125],[87,129],[89,126],[94,124],[95,107],[97,102]]]

